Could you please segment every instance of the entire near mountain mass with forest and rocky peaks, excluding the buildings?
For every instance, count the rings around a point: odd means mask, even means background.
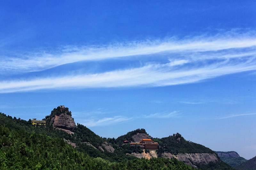
[[[116,139],[102,138],[76,125],[64,106],[54,108],[44,120],[45,126],[34,126],[31,120],[0,114],[0,169],[235,170],[209,148],[186,141],[180,134],[153,138],[145,129],[136,129]],[[158,142],[158,149],[124,144],[141,139]]]

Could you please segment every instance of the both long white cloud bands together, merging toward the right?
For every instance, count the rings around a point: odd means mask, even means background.
[[[133,68],[65,76],[0,81],[0,92],[40,89],[166,86],[194,83],[208,78],[256,70],[256,35],[195,37],[176,41],[143,41],[102,47],[67,47],[56,54],[34,54],[0,59],[1,72],[35,71],[66,63],[116,57],[165,57],[167,63],[148,62]],[[178,55],[175,55],[178,54]],[[132,58],[130,58],[132,59]]]

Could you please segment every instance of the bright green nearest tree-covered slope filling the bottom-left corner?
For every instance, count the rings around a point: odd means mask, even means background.
[[[93,159],[60,138],[0,125],[0,169],[88,169]]]

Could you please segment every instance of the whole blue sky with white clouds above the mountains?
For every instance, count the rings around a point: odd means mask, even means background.
[[[0,112],[256,155],[255,1],[2,1]]]

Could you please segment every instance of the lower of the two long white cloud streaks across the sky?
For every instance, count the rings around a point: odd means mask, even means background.
[[[202,67],[172,70],[168,64],[151,64],[140,68],[114,70],[99,74],[1,81],[0,92],[19,92],[57,88],[97,88],[125,86],[165,86],[194,83],[226,74],[256,70],[256,61],[226,61]]]

